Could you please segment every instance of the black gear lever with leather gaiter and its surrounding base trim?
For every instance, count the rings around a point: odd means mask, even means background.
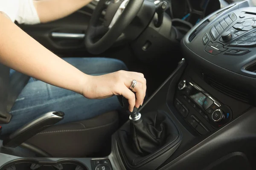
[[[126,99],[118,99],[128,110]],[[133,113],[128,113],[130,122],[125,123],[117,134],[120,153],[129,169],[145,166],[147,170],[154,170],[154,167],[160,165],[157,159],[162,156],[161,160],[166,160],[177,149],[181,143],[181,133],[163,111],[151,111],[141,115],[134,109]],[[133,117],[139,119],[132,119]]]

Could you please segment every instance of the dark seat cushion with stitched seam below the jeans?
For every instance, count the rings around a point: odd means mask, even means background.
[[[105,147],[118,128],[118,113],[108,112],[79,122],[54,125],[27,142],[53,157],[91,156]]]

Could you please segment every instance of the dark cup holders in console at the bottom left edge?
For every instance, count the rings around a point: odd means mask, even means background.
[[[35,161],[17,159],[3,165],[0,170],[89,170],[84,164],[74,160]]]

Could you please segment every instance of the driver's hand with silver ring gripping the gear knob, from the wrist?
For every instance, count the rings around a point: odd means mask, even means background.
[[[129,89],[133,80],[137,81],[132,91]],[[139,108],[143,104],[146,94],[146,79],[142,73],[130,71],[116,71],[102,76],[89,76],[83,85],[82,94],[88,99],[104,99],[113,95],[122,95],[129,102],[129,111],[134,106]]]

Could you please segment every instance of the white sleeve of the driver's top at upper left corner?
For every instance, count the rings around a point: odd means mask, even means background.
[[[0,0],[0,11],[19,24],[40,23],[33,0]]]

